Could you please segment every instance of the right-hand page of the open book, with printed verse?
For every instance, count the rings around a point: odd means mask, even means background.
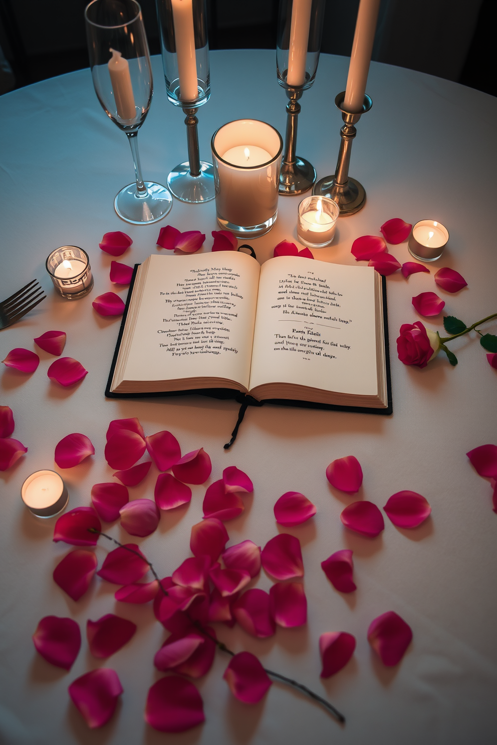
[[[266,261],[250,390],[288,383],[376,396],[374,273],[294,256]]]

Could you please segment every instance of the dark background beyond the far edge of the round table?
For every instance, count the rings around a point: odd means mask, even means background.
[[[0,92],[88,67],[87,0],[0,0]],[[159,54],[155,0],[141,0]],[[382,0],[373,60],[497,95],[497,0]],[[209,48],[276,47],[278,0],[207,0]],[[358,0],[326,0],[321,51],[349,55]],[[493,50],[493,51],[492,51]]]

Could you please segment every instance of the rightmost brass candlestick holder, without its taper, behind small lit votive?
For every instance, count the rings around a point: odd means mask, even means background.
[[[321,197],[329,197],[340,207],[340,217],[354,215],[364,207],[366,203],[366,190],[361,183],[349,177],[350,153],[352,150],[352,140],[357,134],[355,124],[358,123],[362,114],[365,114],[373,106],[368,95],[364,95],[362,111],[349,112],[344,109],[345,91],[338,94],[335,98],[335,106],[341,110],[344,126],[340,130],[341,143],[338,151],[338,161],[335,174],[325,176],[320,179],[314,188],[313,194]]]

